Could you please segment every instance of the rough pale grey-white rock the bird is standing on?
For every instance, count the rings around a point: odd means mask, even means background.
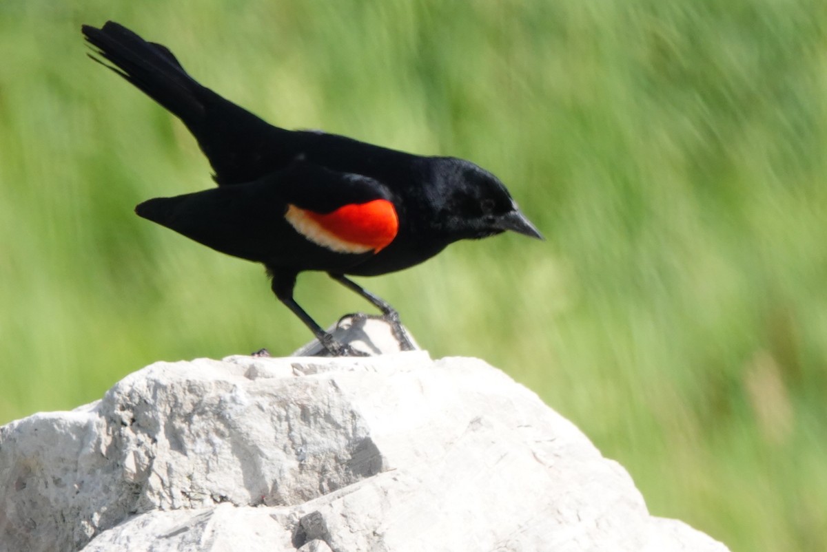
[[[727,549],[500,370],[414,351],[160,362],[3,426],[0,551],[47,550]]]

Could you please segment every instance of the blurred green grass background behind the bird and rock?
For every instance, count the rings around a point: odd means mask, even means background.
[[[0,423],[156,359],[287,355],[263,270],[132,207],[211,185],[107,19],[288,128],[490,169],[545,233],[363,279],[732,550],[827,550],[827,2],[0,3]],[[361,300],[319,274],[323,325]]]

